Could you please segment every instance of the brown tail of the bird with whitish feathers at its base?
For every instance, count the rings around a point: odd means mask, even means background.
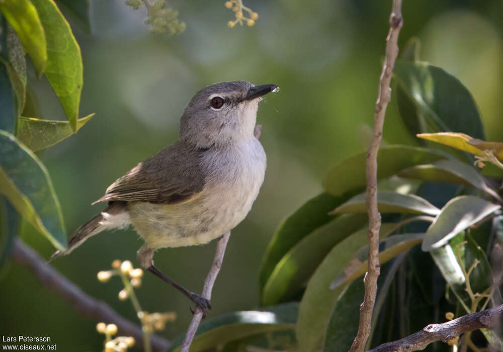
[[[127,212],[127,203],[120,201],[111,202],[102,212],[96,214],[91,220],[77,228],[68,239],[68,247],[66,250],[56,250],[49,258],[49,261],[54,260],[60,255],[69,254],[88,238],[104,230],[124,228],[128,225],[129,215]]]

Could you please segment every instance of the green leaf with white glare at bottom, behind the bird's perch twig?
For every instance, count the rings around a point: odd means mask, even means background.
[[[204,320],[199,326],[191,350],[202,351],[217,345],[259,333],[294,329],[298,303],[286,303],[260,311],[241,311]],[[185,333],[173,340],[170,351],[180,351]]]

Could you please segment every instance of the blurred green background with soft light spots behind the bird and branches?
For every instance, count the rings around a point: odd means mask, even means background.
[[[182,35],[149,33],[144,8],[134,11],[124,0],[92,2],[92,34],[71,23],[84,65],[80,116],[96,116],[77,135],[40,156],[71,233],[101,210],[103,205],[90,204],[109,184],[177,139],[183,109],[201,87],[226,80],[279,85],[280,93],[261,103],[258,116],[268,155],[266,179],[253,210],[233,231],[210,317],[254,309],[260,261],[278,223],[321,191],[322,175],[335,161],[365,145],[391,1],[245,0],[259,20],[254,27],[233,29],[226,23],[234,14],[223,0],[168,3],[187,24]],[[487,139],[501,141],[501,0],[406,1],[402,12],[401,47],[411,36],[420,37],[421,59],[443,67],[468,87]],[[47,80],[32,74],[29,83],[42,112],[36,117],[65,120]],[[386,114],[384,139],[414,143],[394,100]],[[46,258],[54,250],[29,227],[22,237]],[[109,269],[116,258],[135,262],[141,244],[131,229],[102,233],[53,265],[86,293],[136,321],[130,303],[117,299],[120,280],[102,284],[96,274]],[[214,249],[215,242],[161,249],[155,263],[175,281],[200,292]],[[162,335],[171,339],[184,332],[192,317],[184,296],[149,274],[137,294],[149,312],[178,313]],[[95,326],[41,288],[23,267],[7,262],[0,270],[2,334],[50,336],[58,350],[98,351],[103,335]]]

